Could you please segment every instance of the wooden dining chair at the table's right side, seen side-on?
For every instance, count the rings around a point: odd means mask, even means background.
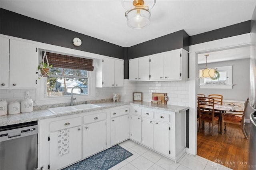
[[[246,132],[246,129],[244,128],[244,117],[246,113],[246,108],[249,103],[249,98],[246,99],[245,105],[244,105],[244,111],[232,111],[232,113],[222,113],[222,129],[221,134],[224,134],[224,128],[226,130],[226,126],[231,125],[240,125],[242,132],[244,134],[244,137],[248,139],[248,133]],[[228,123],[228,124],[227,124]]]

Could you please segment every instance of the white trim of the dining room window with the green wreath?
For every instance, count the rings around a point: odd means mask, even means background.
[[[224,67],[215,67],[218,70],[228,70],[228,84],[226,85],[201,85],[203,79],[200,79],[200,89],[232,89],[233,88],[233,80],[232,80],[232,65],[224,66]]]

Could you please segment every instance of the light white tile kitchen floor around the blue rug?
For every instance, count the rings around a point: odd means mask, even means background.
[[[178,163],[132,140],[119,144],[133,155],[113,166],[110,170],[228,170],[200,156],[186,154]],[[230,170],[230,169],[229,169]]]

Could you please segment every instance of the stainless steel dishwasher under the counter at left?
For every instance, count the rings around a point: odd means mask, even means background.
[[[37,121],[0,127],[0,169],[37,168],[37,134]]]

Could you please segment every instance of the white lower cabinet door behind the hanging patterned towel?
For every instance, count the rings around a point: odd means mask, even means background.
[[[60,169],[80,159],[82,159],[81,127],[69,128],[69,152],[62,156],[58,151],[58,131],[50,133],[50,169]]]

